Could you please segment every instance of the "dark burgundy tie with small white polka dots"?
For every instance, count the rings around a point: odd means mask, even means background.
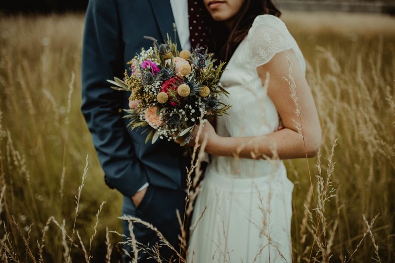
[[[191,48],[208,48],[209,28],[203,0],[188,0],[189,41]]]

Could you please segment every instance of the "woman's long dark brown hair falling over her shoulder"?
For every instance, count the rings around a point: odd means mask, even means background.
[[[254,19],[259,15],[280,17],[281,12],[271,0],[244,0],[233,18],[233,28],[229,30],[223,22],[217,22],[208,14],[211,27],[210,51],[222,61],[228,61],[240,42],[247,36]]]

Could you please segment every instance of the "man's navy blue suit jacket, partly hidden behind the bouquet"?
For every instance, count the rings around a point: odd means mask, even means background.
[[[128,129],[121,109],[128,108],[129,93],[110,88],[106,79],[123,77],[126,62],[141,47],[152,46],[150,36],[163,41],[174,36],[169,0],[90,0],[82,48],[82,106],[106,183],[131,197],[146,182],[181,188],[190,165],[185,149],[158,140],[145,144],[148,132]],[[178,47],[180,44],[178,42]]]

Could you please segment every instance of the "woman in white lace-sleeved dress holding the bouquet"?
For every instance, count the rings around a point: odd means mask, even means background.
[[[302,53],[270,0],[203,2],[227,28],[213,28],[213,38],[222,58],[230,57],[220,80],[232,107],[200,136],[212,159],[188,262],[291,262],[293,184],[281,159],[312,157],[321,143]]]

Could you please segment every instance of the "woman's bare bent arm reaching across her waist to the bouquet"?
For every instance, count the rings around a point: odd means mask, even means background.
[[[294,94],[300,106],[299,115],[291,97],[289,67],[296,84]],[[269,73],[267,92],[282,118],[284,129],[263,136],[221,137],[206,123],[200,136],[207,135],[206,151],[217,156],[237,155],[242,158],[272,157],[274,154],[280,159],[315,156],[322,140],[321,128],[313,96],[294,53],[288,50],[276,54],[268,63],[257,67],[257,72],[262,83]],[[299,135],[296,123],[303,137]]]

